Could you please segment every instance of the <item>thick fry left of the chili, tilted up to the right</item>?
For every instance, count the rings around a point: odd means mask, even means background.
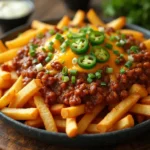
[[[15,99],[10,103],[11,108],[21,108],[27,101],[32,98],[35,93],[39,91],[42,87],[40,79],[33,79],[30,81],[23,89],[21,89],[17,94]]]

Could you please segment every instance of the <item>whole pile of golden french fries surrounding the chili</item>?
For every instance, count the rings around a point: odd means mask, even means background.
[[[105,24],[93,9],[87,14],[81,10],[77,11],[73,20],[64,16],[57,24],[57,28],[61,29],[69,24],[85,25],[85,15],[93,28],[107,26],[124,34],[132,34],[150,49],[150,40],[145,40],[143,33],[121,29],[125,25],[125,17]],[[11,63],[20,47],[28,44],[38,33],[53,29],[54,25],[34,20],[31,27],[32,29],[19,37],[6,41],[5,45],[0,41],[1,64]],[[106,106],[105,102],[98,104],[91,113],[85,113],[85,104],[71,107],[54,104],[49,107],[39,93],[41,88],[40,79],[33,79],[24,86],[22,76],[18,77],[14,71],[0,70],[0,111],[15,120],[23,120],[28,126],[44,128],[50,132],[65,132],[68,137],[131,128],[135,125],[135,118],[138,123],[150,118],[150,95],[145,87],[139,84],[132,85],[129,96],[121,102],[109,106]],[[104,113],[106,107],[109,107],[110,111]]]

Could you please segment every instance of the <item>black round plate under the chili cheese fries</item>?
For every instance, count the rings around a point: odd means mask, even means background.
[[[47,23],[55,24],[58,20],[49,20]],[[23,25],[19,28],[16,28],[8,33],[6,33],[1,40],[6,41],[16,37],[19,33],[30,28],[30,25]],[[145,37],[150,38],[150,31],[138,27],[136,25],[127,25],[126,28],[134,29],[144,33]],[[68,138],[65,133],[52,133],[47,132],[42,129],[36,129],[33,127],[26,126],[25,124],[15,121],[6,115],[0,112],[0,119],[4,120],[6,123],[11,124],[17,131],[22,134],[32,137],[34,139],[55,145],[64,145],[64,146],[108,146],[112,144],[118,144],[127,142],[134,139],[135,137],[141,135],[142,133],[150,130],[150,120],[147,120],[143,123],[137,124],[135,127],[130,129],[125,129],[121,131],[115,131],[104,134],[84,134],[78,135],[75,138]]]

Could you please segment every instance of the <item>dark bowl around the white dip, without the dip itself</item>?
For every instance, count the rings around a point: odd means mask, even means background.
[[[26,0],[30,7],[31,10],[24,16],[19,17],[19,18],[12,18],[12,19],[2,19],[0,18],[0,26],[2,28],[3,32],[7,32],[13,28],[16,28],[17,26],[23,25],[27,22],[29,17],[32,15],[34,12],[34,2],[32,0]]]

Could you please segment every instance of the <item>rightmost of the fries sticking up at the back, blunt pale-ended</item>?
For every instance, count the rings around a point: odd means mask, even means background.
[[[119,17],[109,23],[106,24],[107,27],[112,27],[115,30],[119,30],[125,26],[126,18],[125,17]]]

